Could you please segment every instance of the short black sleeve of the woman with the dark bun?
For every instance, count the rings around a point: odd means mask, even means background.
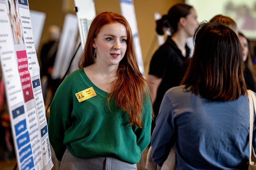
[[[169,56],[171,52],[161,47],[155,52],[151,59],[149,74],[164,78],[170,60]]]

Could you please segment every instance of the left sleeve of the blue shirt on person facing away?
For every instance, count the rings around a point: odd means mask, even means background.
[[[174,116],[169,97],[163,97],[155,129],[151,136],[152,160],[162,166],[174,145]]]

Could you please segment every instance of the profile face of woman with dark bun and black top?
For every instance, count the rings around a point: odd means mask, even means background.
[[[189,37],[194,36],[195,30],[199,24],[197,21],[197,12],[194,8],[190,9],[190,13],[185,17],[185,20],[185,31]]]

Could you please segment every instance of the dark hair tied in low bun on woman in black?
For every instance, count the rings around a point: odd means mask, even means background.
[[[170,28],[172,34],[175,33],[179,19],[186,17],[190,13],[191,8],[193,7],[185,3],[179,3],[171,7],[167,15],[163,15],[161,19],[157,20],[157,33],[163,35],[163,28],[165,27]]]

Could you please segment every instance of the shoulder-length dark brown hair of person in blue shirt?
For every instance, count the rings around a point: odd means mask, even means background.
[[[235,32],[218,23],[202,23],[194,55],[181,84],[210,100],[236,100],[246,93],[242,48]]]

